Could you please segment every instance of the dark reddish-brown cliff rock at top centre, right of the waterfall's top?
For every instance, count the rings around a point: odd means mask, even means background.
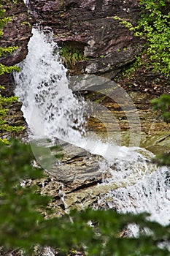
[[[114,19],[119,16],[135,25],[137,0],[31,0],[30,9],[36,22],[52,28],[58,45],[83,50],[87,60],[79,61],[74,72],[114,78],[140,51],[139,39]]]

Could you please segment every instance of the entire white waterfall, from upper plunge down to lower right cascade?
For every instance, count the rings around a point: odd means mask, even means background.
[[[82,138],[86,104],[69,89],[66,68],[59,60],[58,47],[50,34],[45,36],[33,30],[28,56],[20,64],[20,69],[21,72],[15,73],[15,94],[23,102],[22,110],[33,137],[59,138],[93,154],[103,155],[107,160],[101,162],[101,168],[109,167],[112,174],[107,182],[125,184],[124,188],[111,191],[104,197],[104,200],[113,197],[110,208],[123,212],[147,211],[152,214],[152,219],[168,224],[168,168],[156,170],[155,165],[148,164],[147,159],[152,154],[142,148],[126,148]],[[147,158],[139,150],[147,153]]]

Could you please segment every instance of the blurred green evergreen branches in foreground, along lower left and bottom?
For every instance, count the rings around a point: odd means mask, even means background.
[[[58,218],[42,217],[40,212],[47,210],[50,197],[40,195],[37,187],[23,185],[28,178],[43,176],[41,169],[31,166],[32,157],[30,146],[18,140],[0,148],[0,246],[23,249],[27,256],[36,255],[34,246],[53,246],[58,255],[67,255],[70,249],[89,256],[169,255],[165,244],[169,242],[170,226],[148,221],[147,214],[88,208]],[[121,237],[128,224],[134,223],[139,226],[139,236]]]

